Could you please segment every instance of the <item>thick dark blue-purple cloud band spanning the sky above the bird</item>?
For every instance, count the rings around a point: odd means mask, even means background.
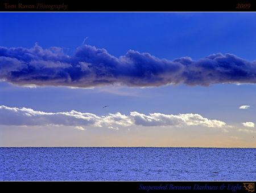
[[[256,83],[256,61],[233,54],[212,54],[199,61],[189,57],[156,58],[129,50],[119,58],[105,49],[82,45],[72,56],[61,48],[31,49],[0,46],[0,80],[18,86],[90,88],[105,85],[158,87],[168,84],[208,87],[212,84]]]

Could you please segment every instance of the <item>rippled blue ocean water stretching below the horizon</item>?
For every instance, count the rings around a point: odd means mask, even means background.
[[[0,181],[255,181],[255,148],[0,148]]]

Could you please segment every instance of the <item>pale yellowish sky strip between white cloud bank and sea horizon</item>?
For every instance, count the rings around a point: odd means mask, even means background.
[[[256,148],[256,136],[238,128],[201,126],[119,128],[1,126],[1,147],[216,147]],[[9,131],[7,131],[9,130]]]

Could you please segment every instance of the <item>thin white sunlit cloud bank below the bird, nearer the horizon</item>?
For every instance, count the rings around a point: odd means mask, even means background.
[[[145,115],[136,111],[130,115],[121,113],[97,116],[92,113],[81,113],[75,110],[70,112],[46,113],[30,108],[9,108],[0,106],[0,125],[7,126],[74,126],[86,130],[84,126],[118,129],[117,126],[205,126],[223,128],[225,122],[209,120],[199,114],[166,115],[152,113]]]

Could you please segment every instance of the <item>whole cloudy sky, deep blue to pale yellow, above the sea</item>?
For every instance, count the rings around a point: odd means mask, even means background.
[[[1,12],[0,145],[256,147],[255,19]]]

